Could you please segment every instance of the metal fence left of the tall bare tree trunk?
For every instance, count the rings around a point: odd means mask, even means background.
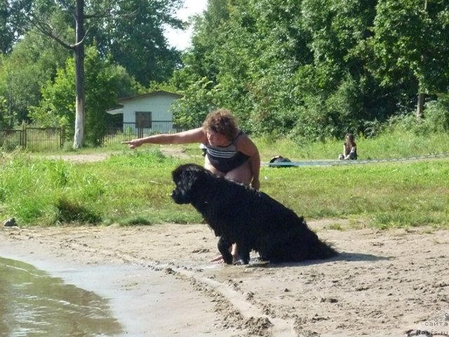
[[[0,147],[14,150],[17,147],[32,151],[58,150],[64,145],[65,128],[31,128],[19,130],[0,129]]]

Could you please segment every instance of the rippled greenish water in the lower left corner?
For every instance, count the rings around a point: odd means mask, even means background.
[[[119,336],[105,298],[0,257],[0,336]]]

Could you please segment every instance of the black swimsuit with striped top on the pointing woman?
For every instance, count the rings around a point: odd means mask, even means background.
[[[241,166],[245,161],[249,159],[249,156],[236,150],[235,142],[243,133],[240,133],[227,146],[212,146],[206,144],[206,154],[215,169],[221,173],[228,173]]]

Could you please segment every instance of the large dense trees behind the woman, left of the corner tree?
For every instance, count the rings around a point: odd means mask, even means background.
[[[369,92],[355,51],[369,35],[374,2],[210,1],[175,79],[187,92],[207,83],[214,95],[203,99],[234,110],[246,131],[340,136]],[[208,106],[194,98],[178,114]]]

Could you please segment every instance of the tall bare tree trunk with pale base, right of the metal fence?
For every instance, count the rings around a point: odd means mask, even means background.
[[[83,147],[86,138],[86,95],[84,91],[84,0],[76,0],[75,16],[75,81],[76,81],[76,105],[75,105],[75,135],[74,149]]]

